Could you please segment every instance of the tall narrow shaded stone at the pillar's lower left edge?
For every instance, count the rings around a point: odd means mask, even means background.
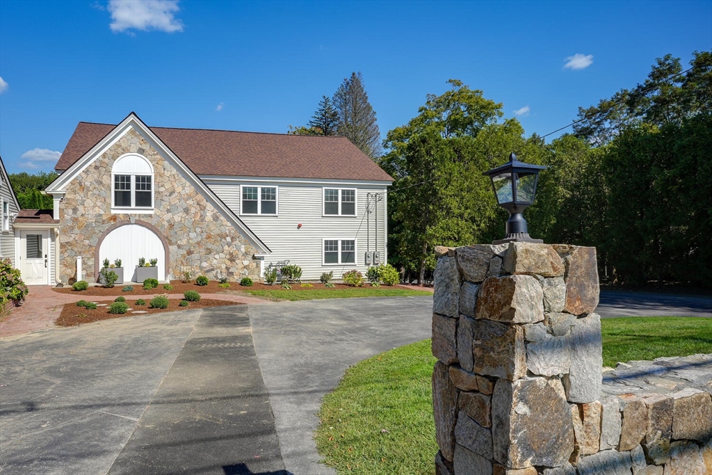
[[[448,375],[447,366],[436,362],[433,368],[433,415],[435,439],[443,456],[452,461],[455,450],[457,389]]]

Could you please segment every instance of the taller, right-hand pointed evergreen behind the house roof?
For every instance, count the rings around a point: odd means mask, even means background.
[[[372,159],[381,156],[381,133],[376,123],[376,113],[368,102],[361,73],[351,73],[334,94],[334,107],[338,116],[338,133]]]

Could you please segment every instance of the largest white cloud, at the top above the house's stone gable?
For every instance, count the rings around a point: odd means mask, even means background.
[[[174,18],[178,0],[109,0],[113,20],[111,31],[158,30],[183,31],[183,23]],[[129,32],[130,33],[130,32]]]

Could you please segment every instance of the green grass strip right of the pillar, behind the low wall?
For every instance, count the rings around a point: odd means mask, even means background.
[[[712,318],[604,318],[601,333],[604,366],[661,356],[712,353]]]

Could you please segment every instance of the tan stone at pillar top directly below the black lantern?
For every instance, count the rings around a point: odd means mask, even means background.
[[[504,259],[504,270],[513,274],[558,277],[564,275],[565,266],[549,244],[511,242]]]

